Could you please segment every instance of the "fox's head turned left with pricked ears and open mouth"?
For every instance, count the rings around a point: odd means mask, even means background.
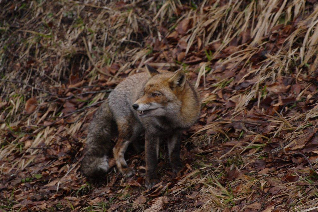
[[[143,96],[135,102],[133,108],[141,117],[179,113],[186,82],[185,73],[158,72],[153,67],[146,66],[150,79],[144,86]]]

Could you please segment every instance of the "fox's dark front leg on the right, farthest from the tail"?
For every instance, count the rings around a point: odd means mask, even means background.
[[[180,140],[181,133],[175,133],[168,138],[169,160],[171,168],[175,173],[178,173],[178,171],[182,168],[182,163],[180,160]]]

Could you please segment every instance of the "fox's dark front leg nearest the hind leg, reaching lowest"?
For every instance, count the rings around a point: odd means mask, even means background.
[[[146,158],[146,187],[151,188],[157,183],[157,158],[159,153],[159,137],[146,133],[145,158]]]

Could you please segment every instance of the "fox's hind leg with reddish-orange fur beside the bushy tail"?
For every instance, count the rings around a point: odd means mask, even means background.
[[[131,168],[128,168],[124,154],[129,144],[139,136],[141,128],[139,127],[138,123],[132,124],[127,120],[122,121],[121,123],[119,121],[117,122],[118,141],[113,148],[113,153],[119,171],[125,176],[130,176],[134,174],[134,171]]]

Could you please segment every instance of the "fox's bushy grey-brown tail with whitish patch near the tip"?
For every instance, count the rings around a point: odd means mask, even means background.
[[[116,123],[108,101],[95,112],[86,140],[86,151],[81,164],[82,173],[88,178],[103,177],[109,169],[107,155],[113,148],[112,137]]]

